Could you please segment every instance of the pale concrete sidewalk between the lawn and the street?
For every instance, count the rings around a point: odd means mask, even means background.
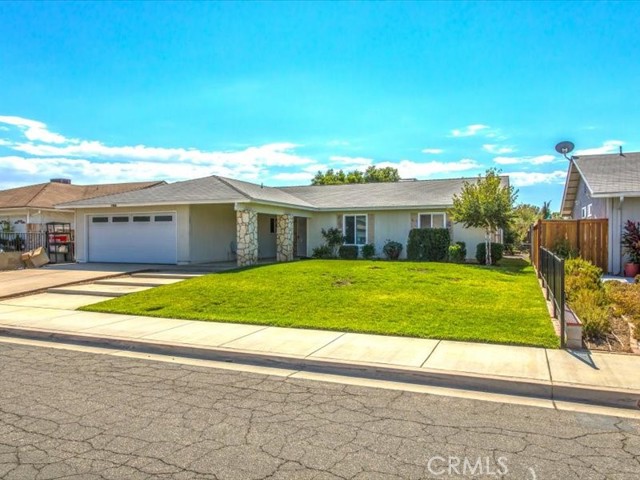
[[[86,313],[27,299],[0,302],[1,334],[554,401],[640,401],[638,356]]]

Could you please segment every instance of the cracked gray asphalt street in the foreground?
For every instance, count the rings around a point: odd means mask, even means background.
[[[640,422],[0,342],[0,478],[637,479]]]

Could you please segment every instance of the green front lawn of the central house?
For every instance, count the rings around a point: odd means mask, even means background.
[[[305,260],[206,275],[82,310],[557,347],[533,269]]]

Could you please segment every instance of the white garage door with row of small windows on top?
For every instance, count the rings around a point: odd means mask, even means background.
[[[89,261],[176,263],[176,213],[89,217]]]

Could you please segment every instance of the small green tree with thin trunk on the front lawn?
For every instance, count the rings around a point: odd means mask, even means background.
[[[483,228],[486,243],[486,264],[491,265],[491,234],[505,229],[513,216],[517,192],[502,185],[500,171],[490,168],[476,182],[465,181],[460,195],[453,196],[449,215],[465,228]]]

